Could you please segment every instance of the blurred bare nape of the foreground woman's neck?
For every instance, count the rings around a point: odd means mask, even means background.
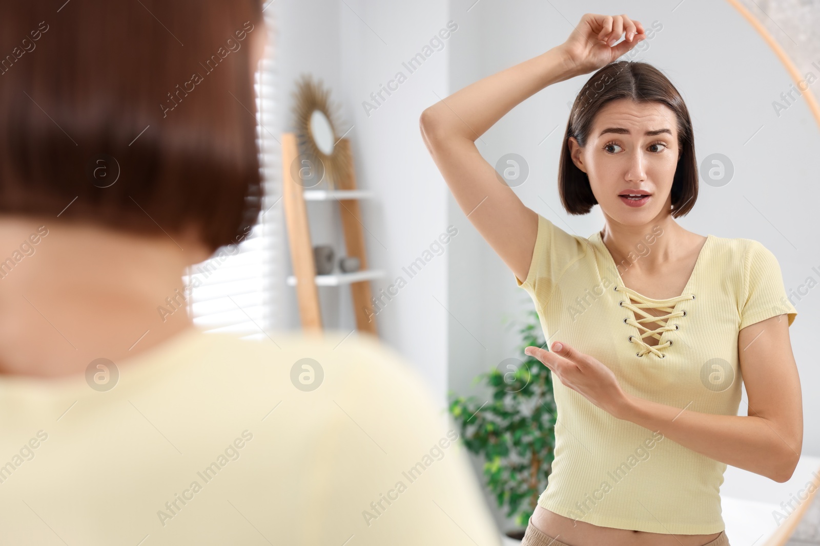
[[[157,308],[179,300],[185,267],[207,250],[160,235],[0,216],[0,374],[80,374],[192,326],[183,309],[163,317]]]

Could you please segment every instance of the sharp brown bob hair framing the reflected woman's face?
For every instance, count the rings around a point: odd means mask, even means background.
[[[613,62],[592,74],[572,105],[558,162],[558,193],[564,209],[569,214],[587,214],[598,204],[590,179],[572,163],[569,138],[575,137],[585,147],[595,115],[608,102],[622,98],[640,104],[660,103],[675,113],[681,156],[672,180],[672,217],[688,213],[698,198],[698,165],[689,111],[681,93],[660,70],[633,61]]]

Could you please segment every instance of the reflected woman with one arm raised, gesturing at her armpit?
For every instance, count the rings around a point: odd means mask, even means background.
[[[725,545],[726,465],[782,482],[799,459],[796,310],[777,259],[758,241],[674,221],[697,196],[693,131],[663,74],[613,62],[642,39],[637,20],[587,14],[565,43],[421,115],[458,205],[532,297],[546,339],[560,340],[527,348],[558,377],[558,422],[522,544]],[[567,212],[604,212],[604,229],[584,238],[526,208],[474,141],[540,89],[594,70],[558,180]]]

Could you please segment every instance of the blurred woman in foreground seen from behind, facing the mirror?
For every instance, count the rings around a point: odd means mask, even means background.
[[[261,0],[3,8],[0,544],[497,544],[394,351],[186,313],[260,213]]]

